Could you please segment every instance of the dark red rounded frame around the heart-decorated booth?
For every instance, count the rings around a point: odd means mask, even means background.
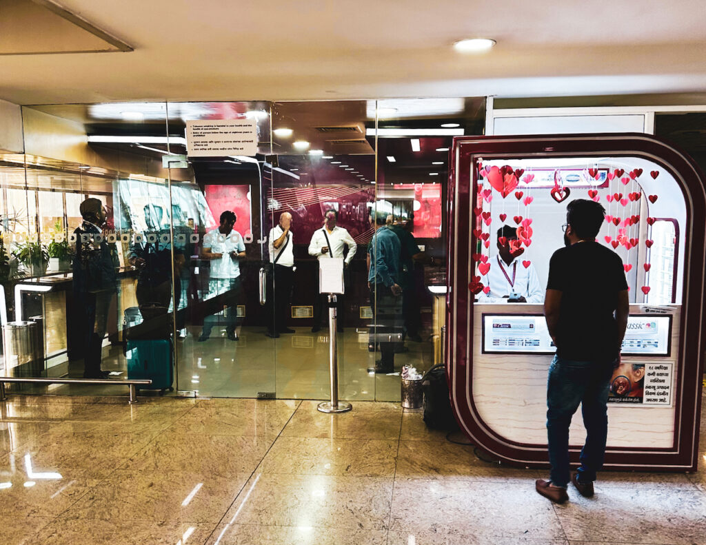
[[[482,450],[512,465],[549,467],[545,444],[519,443],[501,436],[483,421],[472,395],[473,202],[477,160],[561,157],[637,157],[668,171],[683,192],[687,256],[683,272],[679,358],[672,448],[606,448],[606,469],[695,471],[701,409],[701,376],[706,357],[706,186],[695,162],[664,140],[639,133],[542,136],[461,136],[454,138],[448,183],[448,262],[445,364],[451,405],[464,433]],[[688,340],[688,342],[687,342]],[[610,426],[610,424],[609,424]],[[578,463],[580,446],[570,446]]]

